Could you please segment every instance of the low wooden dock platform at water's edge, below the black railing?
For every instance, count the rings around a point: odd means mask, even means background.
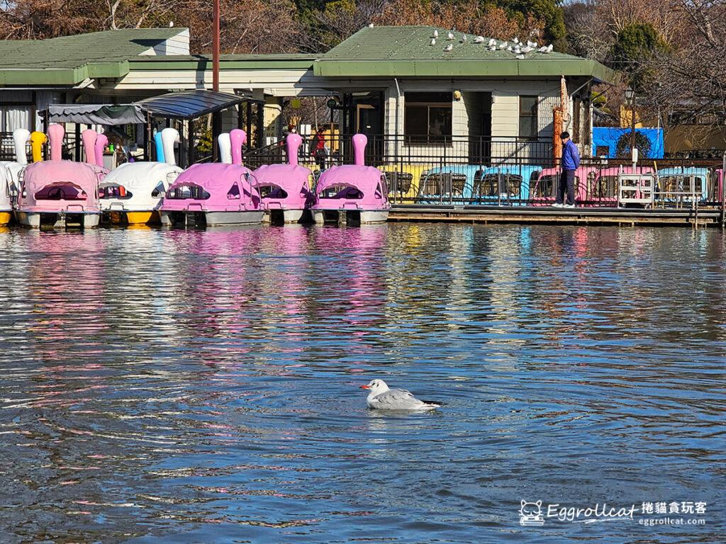
[[[545,223],[618,226],[721,226],[721,210],[701,208],[618,208],[537,206],[457,206],[396,204],[388,221],[430,221],[445,223]]]

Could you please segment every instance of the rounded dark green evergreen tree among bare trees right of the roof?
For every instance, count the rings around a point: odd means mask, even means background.
[[[648,70],[644,67],[658,52],[668,46],[648,22],[634,22],[624,27],[616,36],[611,50],[613,67],[627,73],[630,86],[640,91]]]

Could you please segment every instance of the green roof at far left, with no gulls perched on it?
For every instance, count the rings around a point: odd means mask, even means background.
[[[185,28],[105,30],[48,40],[0,41],[0,85],[76,85],[86,78],[119,78],[130,58]]]

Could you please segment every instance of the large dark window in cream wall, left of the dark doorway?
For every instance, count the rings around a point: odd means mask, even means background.
[[[441,144],[450,139],[452,94],[404,94],[404,135],[416,144]]]

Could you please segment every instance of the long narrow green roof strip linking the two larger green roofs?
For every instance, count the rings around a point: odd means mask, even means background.
[[[310,54],[223,54],[219,70],[309,70],[317,57]],[[145,56],[129,60],[131,70],[211,70],[212,59],[205,55]]]

